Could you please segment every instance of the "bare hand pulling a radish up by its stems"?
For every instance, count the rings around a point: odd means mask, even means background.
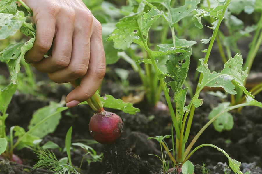
[[[23,0],[33,11],[36,40],[25,55],[27,63],[48,73],[56,83],[83,76],[65,99],[73,107],[88,100],[105,75],[102,26],[81,0]],[[44,58],[52,46],[52,55]]]

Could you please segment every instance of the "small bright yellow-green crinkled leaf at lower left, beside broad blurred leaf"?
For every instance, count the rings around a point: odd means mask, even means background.
[[[20,126],[13,126],[12,129],[15,131],[14,137],[18,137],[18,139],[22,138],[22,136],[26,133],[24,128]],[[19,144],[25,144],[28,146],[34,146],[33,141],[38,140],[39,137],[36,137],[34,135],[26,135],[22,139],[20,139]],[[25,147],[25,146],[22,146]]]

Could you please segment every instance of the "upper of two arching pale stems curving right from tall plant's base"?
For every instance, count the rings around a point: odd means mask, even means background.
[[[189,144],[189,146],[187,147],[185,153],[184,153],[184,160],[185,161],[185,157],[187,156],[187,154],[189,153],[189,151],[191,150],[192,146],[195,144],[195,142],[197,141],[197,139],[200,137],[200,135],[203,133],[203,131],[213,122],[215,121],[215,119],[217,119],[220,115],[230,111],[230,110],[233,110],[233,109],[236,109],[236,108],[239,108],[239,107],[243,107],[243,106],[251,106],[252,104],[249,104],[249,103],[242,103],[242,104],[238,104],[238,105],[235,105],[235,106],[231,106],[229,108],[227,108],[226,110],[224,110],[223,112],[217,114],[215,117],[213,117],[209,122],[206,123],[205,126],[203,126],[203,128],[201,128],[201,130],[197,133],[197,135],[194,137],[194,139],[192,140],[192,142]]]

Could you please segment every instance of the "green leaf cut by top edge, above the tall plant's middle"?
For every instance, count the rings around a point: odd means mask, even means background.
[[[163,17],[167,20],[169,26],[173,26],[197,8],[200,0],[186,0],[185,5],[180,6],[179,8],[171,8],[170,2],[171,0],[164,0],[160,2],[160,4],[167,8],[167,12],[164,13]]]

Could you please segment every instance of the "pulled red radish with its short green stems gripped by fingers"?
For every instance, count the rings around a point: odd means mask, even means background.
[[[72,81],[71,84],[76,88],[82,78]],[[113,144],[121,136],[124,128],[122,119],[115,113],[107,112],[103,104],[95,93],[87,100],[89,106],[96,112],[90,119],[89,131],[91,136],[101,144]]]

